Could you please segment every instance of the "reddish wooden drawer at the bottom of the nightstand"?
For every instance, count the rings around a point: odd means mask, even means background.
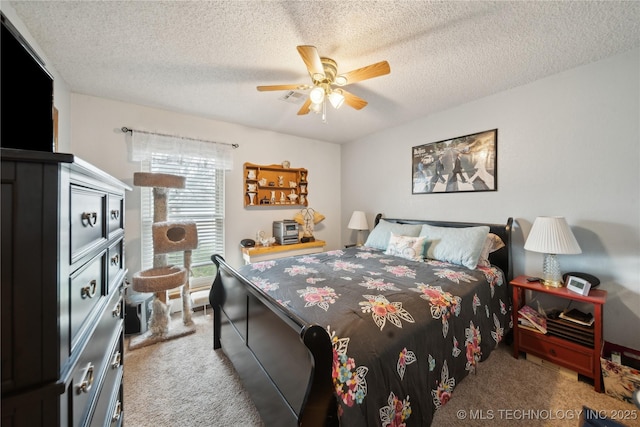
[[[557,365],[564,366],[580,374],[592,376],[594,363],[593,349],[583,347],[552,336],[518,329],[520,349],[542,357]],[[597,361],[600,363],[600,361]]]

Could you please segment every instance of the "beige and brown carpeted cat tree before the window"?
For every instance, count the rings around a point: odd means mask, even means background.
[[[184,188],[185,178],[177,175],[137,172],[133,184],[153,188],[153,268],[133,275],[136,292],[154,293],[149,330],[134,337],[131,349],[178,338],[195,332],[191,319],[189,275],[191,251],[198,247],[198,230],[193,221],[167,221],[167,196],[172,188]],[[183,252],[184,267],[167,265],[167,254]],[[169,290],[182,287],[182,327],[169,328],[171,303]]]

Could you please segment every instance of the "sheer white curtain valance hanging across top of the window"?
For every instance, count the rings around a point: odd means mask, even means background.
[[[233,169],[233,146],[227,143],[132,130],[131,146],[133,161],[149,160],[152,153],[159,153],[209,159],[220,169]]]

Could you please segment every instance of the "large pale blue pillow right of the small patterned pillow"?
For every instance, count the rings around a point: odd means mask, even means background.
[[[427,238],[426,258],[463,265],[473,270],[478,265],[488,226],[435,227],[424,224],[420,236]]]

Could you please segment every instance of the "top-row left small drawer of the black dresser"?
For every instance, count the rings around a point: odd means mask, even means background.
[[[71,263],[106,240],[104,192],[71,185]]]

